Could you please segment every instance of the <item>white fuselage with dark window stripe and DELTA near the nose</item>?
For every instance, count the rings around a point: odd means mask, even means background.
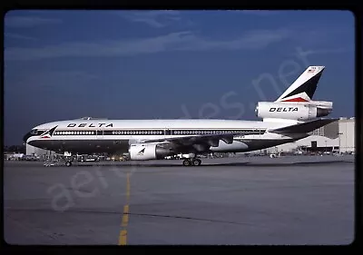
[[[270,133],[292,123],[235,120],[69,120],[44,123],[25,135],[25,142],[58,152],[127,152],[145,140],[201,134],[242,132],[232,143],[219,142],[210,152],[248,152],[305,137]],[[49,133],[49,131],[52,131]],[[48,131],[48,133],[47,133]],[[44,133],[45,132],[45,133]]]

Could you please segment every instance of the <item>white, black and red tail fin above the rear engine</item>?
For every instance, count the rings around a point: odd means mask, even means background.
[[[275,102],[311,101],[325,66],[309,66]]]

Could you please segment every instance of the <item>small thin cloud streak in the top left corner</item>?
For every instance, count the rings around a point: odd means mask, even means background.
[[[31,27],[35,25],[61,24],[63,21],[56,18],[43,18],[39,16],[5,16],[6,27]]]

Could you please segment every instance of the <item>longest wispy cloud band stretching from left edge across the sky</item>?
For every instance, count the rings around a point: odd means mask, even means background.
[[[39,48],[8,47],[5,60],[36,60],[64,56],[125,56],[172,51],[262,49],[289,38],[286,29],[256,30],[229,41],[207,40],[189,31],[152,38],[94,43],[64,43]]]

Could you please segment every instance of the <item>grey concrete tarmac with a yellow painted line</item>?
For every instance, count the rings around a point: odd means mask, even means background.
[[[11,244],[348,244],[353,156],[5,162]],[[83,166],[83,167],[81,167]]]

